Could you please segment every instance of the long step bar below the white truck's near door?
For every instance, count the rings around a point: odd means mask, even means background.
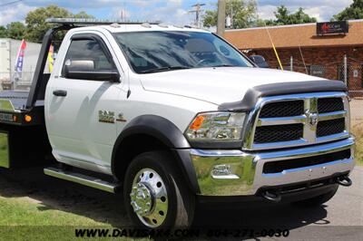
[[[54,167],[45,168],[44,174],[52,176],[54,178],[61,178],[64,180],[72,181],[83,186],[97,188],[106,192],[116,193],[119,185],[116,183],[111,183],[100,178],[95,178],[74,171],[57,169]]]

